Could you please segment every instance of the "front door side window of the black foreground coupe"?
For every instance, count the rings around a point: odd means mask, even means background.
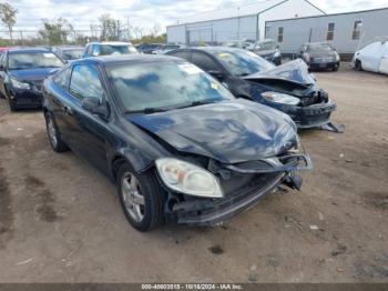
[[[70,93],[82,100],[83,98],[103,97],[99,72],[91,66],[75,66],[71,74]]]

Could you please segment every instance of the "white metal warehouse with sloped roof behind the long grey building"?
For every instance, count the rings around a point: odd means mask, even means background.
[[[167,27],[167,42],[263,39],[270,20],[325,14],[307,0],[267,0],[247,6],[218,9],[178,21]]]

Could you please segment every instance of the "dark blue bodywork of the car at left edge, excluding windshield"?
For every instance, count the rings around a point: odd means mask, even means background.
[[[12,49],[2,56],[0,72],[0,91],[18,108],[39,108],[42,106],[42,84],[43,80],[55,73],[58,68],[32,68],[13,70],[8,68],[8,58],[10,54],[18,53],[51,53],[45,49]],[[62,63],[63,64],[63,63]],[[29,84],[28,89],[16,88],[12,80]]]

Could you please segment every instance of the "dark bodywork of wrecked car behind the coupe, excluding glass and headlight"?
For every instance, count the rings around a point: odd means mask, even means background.
[[[245,98],[255,102],[275,108],[287,113],[298,128],[316,128],[329,123],[336,104],[329,99],[328,93],[319,89],[315,78],[308,72],[306,63],[294,60],[272,69],[255,72],[248,76],[233,76],[215,57],[215,53],[234,52],[238,49],[227,48],[196,48],[169,52],[167,54],[182,56],[186,52],[188,61],[195,52],[205,53],[217,67],[219,81],[225,83],[231,92],[237,98]],[[195,63],[201,67],[201,63]],[[206,70],[206,68],[202,67]],[[212,73],[212,72],[211,72]],[[279,92],[300,99],[298,106],[277,103],[268,101],[263,97],[264,92]]]

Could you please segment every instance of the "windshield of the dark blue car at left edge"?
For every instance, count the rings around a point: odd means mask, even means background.
[[[62,66],[62,61],[52,52],[10,53],[8,58],[10,70],[59,68]]]

